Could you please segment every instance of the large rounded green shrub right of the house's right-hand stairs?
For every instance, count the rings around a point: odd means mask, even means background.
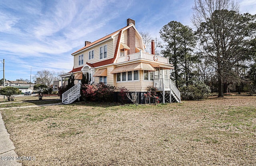
[[[188,87],[182,87],[180,91],[181,97],[184,100],[199,100],[209,97],[211,89],[204,83],[195,83],[188,85]]]

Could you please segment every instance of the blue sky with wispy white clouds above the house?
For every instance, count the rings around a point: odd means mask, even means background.
[[[240,0],[242,13],[256,14],[256,0]],[[194,0],[1,0],[0,60],[5,78],[30,79],[37,71],[71,71],[71,53],[136,22],[139,32],[159,38],[175,20],[192,26]],[[0,79],[3,78],[0,63]]]

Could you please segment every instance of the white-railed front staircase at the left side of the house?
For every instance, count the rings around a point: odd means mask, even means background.
[[[70,104],[78,99],[80,95],[81,83],[77,83],[74,87],[68,89],[65,93],[62,94],[62,103]]]

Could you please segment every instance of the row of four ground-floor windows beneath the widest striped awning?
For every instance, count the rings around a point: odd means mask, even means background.
[[[138,70],[116,73],[117,82],[138,81],[138,80],[139,80]]]

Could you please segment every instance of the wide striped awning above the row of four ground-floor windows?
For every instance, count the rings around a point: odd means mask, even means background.
[[[124,65],[124,66],[118,66],[114,70],[112,70],[110,73],[122,73],[126,71],[135,71],[135,70],[148,70],[148,71],[156,71],[154,67],[152,67],[148,63],[132,63],[129,65]]]

